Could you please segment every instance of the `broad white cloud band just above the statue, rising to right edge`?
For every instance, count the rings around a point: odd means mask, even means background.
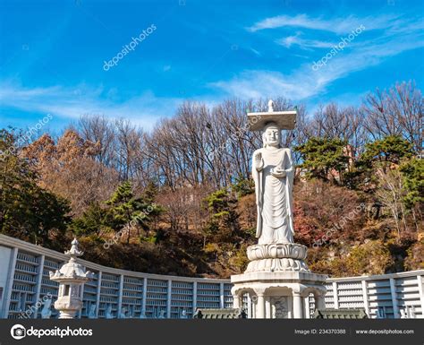
[[[362,44],[350,52],[341,51],[317,71],[312,69],[312,63],[301,65],[293,73],[247,70],[229,81],[209,85],[228,95],[243,98],[283,95],[293,100],[307,99],[325,91],[326,86],[337,79],[418,47],[424,47],[424,40],[420,36],[395,37],[376,44]]]

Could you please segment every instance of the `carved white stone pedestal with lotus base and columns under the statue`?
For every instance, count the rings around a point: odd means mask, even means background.
[[[231,277],[234,308],[247,293],[254,318],[309,318],[310,294],[324,309],[326,276],[310,272],[306,253],[306,246],[294,243],[249,246],[246,271]]]

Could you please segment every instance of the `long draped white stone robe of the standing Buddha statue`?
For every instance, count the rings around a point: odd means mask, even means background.
[[[262,153],[264,167],[258,171],[255,156]],[[285,177],[271,175],[272,168],[286,170]],[[293,162],[290,149],[262,148],[253,153],[252,176],[255,181],[259,245],[293,243]]]

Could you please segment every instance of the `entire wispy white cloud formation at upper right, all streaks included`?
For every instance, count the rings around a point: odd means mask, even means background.
[[[217,81],[209,85],[226,94],[244,98],[267,98],[283,95],[293,100],[307,99],[325,92],[328,85],[350,73],[378,65],[386,58],[403,51],[424,47],[423,22],[420,18],[402,18],[391,15],[381,15],[373,18],[372,21],[368,17],[359,19],[350,16],[327,21],[310,18],[306,14],[295,17],[283,15],[257,22],[249,30],[256,31],[285,26],[327,30],[339,34],[350,32],[361,24],[364,25],[366,32],[373,29],[381,29],[382,32],[374,31],[367,39],[362,37],[355,39],[354,47],[339,51],[317,71],[312,69],[313,61],[310,61],[308,64],[303,63],[291,73],[245,70],[233,79]],[[302,39],[300,36],[301,32],[297,32],[295,35],[276,40],[276,43],[284,47],[297,45],[304,49],[327,47],[328,50],[324,50],[321,57],[326,56],[326,53],[334,47],[333,43],[316,39]]]

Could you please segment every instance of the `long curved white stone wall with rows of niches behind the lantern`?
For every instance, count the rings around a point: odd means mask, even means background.
[[[55,297],[57,285],[43,272],[67,261],[64,254],[0,235],[0,318],[18,318],[41,300],[47,291]],[[84,290],[80,317],[87,317],[96,304],[96,317],[105,317],[112,307],[114,317],[125,309],[129,317],[191,317],[197,307],[228,307],[232,296],[230,280],[179,277],[114,269],[78,259],[96,273]],[[15,276],[16,275],[16,276]],[[17,279],[14,279],[17,278]],[[377,276],[332,278],[326,280],[326,307],[364,308],[369,317],[400,318],[424,310],[424,270]],[[140,294],[134,294],[139,291]],[[248,300],[245,305],[249,306]],[[311,298],[313,307],[313,299]],[[29,317],[40,317],[40,310]],[[52,317],[55,317],[53,313]]]

